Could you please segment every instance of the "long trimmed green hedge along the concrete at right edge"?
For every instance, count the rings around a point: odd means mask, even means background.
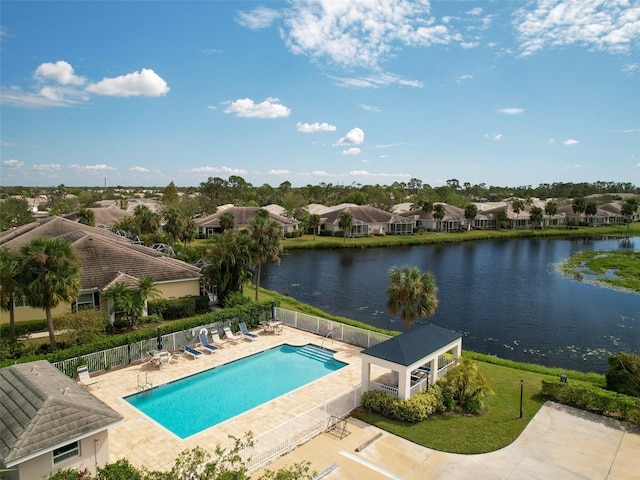
[[[640,425],[640,398],[559,380],[543,380],[542,394],[558,403]]]

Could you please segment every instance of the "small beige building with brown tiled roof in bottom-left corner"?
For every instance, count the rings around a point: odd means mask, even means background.
[[[122,416],[46,360],[0,369],[0,468],[6,480],[109,461],[109,428]]]

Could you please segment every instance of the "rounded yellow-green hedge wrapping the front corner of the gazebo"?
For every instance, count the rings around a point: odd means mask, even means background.
[[[446,410],[442,389],[437,384],[407,400],[401,400],[386,392],[370,390],[362,394],[360,404],[371,412],[409,423],[422,422],[434,413]]]

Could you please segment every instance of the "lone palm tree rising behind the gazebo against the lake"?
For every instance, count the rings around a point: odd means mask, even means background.
[[[418,318],[431,317],[438,308],[438,287],[431,272],[421,273],[416,267],[397,266],[389,270],[387,309],[400,312],[406,331]]]

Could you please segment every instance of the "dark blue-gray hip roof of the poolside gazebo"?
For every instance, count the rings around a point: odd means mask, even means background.
[[[408,367],[461,337],[436,325],[414,325],[408,332],[366,348],[362,353]]]

